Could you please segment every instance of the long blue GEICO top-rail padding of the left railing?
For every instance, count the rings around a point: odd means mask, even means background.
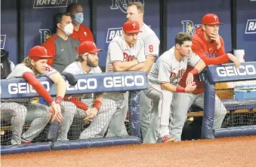
[[[68,84],[66,95],[82,93],[106,93],[128,90],[146,90],[147,74],[136,72],[109,72],[101,74],[78,74],[76,86]],[[56,96],[56,85],[48,77],[39,77],[39,81],[51,96]],[[25,79],[1,80],[1,99],[19,99],[39,96]]]

